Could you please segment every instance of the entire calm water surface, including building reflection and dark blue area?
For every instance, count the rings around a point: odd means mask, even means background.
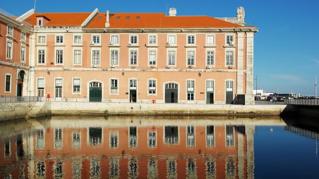
[[[167,116],[2,122],[0,178],[318,178],[318,123]]]

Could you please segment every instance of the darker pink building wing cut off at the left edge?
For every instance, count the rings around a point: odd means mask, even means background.
[[[0,96],[26,95],[32,28],[0,13]]]

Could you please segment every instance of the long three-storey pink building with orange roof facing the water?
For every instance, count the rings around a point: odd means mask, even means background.
[[[245,26],[244,14],[242,7],[234,18],[176,16],[175,9],[168,16],[30,10],[18,17],[33,28],[23,96],[193,104],[228,104],[240,97],[254,104],[258,29]]]

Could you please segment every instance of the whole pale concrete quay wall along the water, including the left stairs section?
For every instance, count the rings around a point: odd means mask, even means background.
[[[37,108],[38,115],[215,115],[215,116],[279,116],[287,105],[233,105],[180,103],[102,103],[40,102],[0,104],[0,121],[28,117]],[[42,105],[41,108],[38,105]]]

